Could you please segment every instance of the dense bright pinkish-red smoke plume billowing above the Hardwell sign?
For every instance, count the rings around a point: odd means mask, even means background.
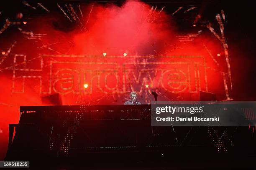
[[[100,54],[108,48],[142,51],[141,46],[174,38],[172,18],[161,9],[139,1],[127,1],[121,7],[94,5],[87,31],[74,36],[74,52]],[[85,22],[86,25],[86,22]]]

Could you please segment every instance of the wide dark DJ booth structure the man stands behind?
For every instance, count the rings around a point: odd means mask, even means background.
[[[256,151],[246,126],[151,126],[151,105],[24,106],[9,131],[5,160],[149,161]]]

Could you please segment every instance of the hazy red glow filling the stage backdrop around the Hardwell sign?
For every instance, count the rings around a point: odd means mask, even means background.
[[[196,23],[187,33],[177,32],[177,23],[161,10],[164,7],[153,13],[151,5],[140,1],[127,1],[122,6],[82,6],[81,23],[73,20],[65,5],[57,7],[62,18],[29,20],[23,26],[35,25],[33,28],[18,30],[26,41],[11,42],[8,55],[2,52],[0,76],[5,83],[0,84],[0,89],[5,90],[0,103],[2,112],[8,113],[0,117],[6,122],[0,125],[2,128],[18,122],[20,105],[41,105],[41,96],[53,93],[61,95],[64,105],[89,100],[90,104],[123,104],[131,91],[138,92],[138,100],[145,103],[152,89],[163,100],[172,100],[173,93],[198,91],[220,94],[218,100],[230,100],[225,37],[220,41],[213,33],[220,29],[218,22],[212,21],[216,25],[211,27],[209,23],[205,28],[210,30],[208,36],[207,31],[196,30]],[[77,25],[69,31],[56,29],[52,23],[60,20]],[[7,20],[3,28],[10,24]],[[33,40],[39,47],[31,47]],[[216,57],[220,51],[223,57]],[[8,135],[7,128],[3,132]]]

